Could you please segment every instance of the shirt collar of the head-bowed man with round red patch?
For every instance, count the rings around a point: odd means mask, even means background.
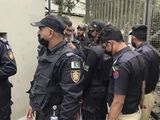
[[[130,47],[125,47],[113,55],[113,61],[119,59],[126,51],[130,51]]]

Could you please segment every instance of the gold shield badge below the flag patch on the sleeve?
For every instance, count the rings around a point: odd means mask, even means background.
[[[75,83],[79,82],[80,76],[81,76],[80,70],[71,70],[71,78]]]

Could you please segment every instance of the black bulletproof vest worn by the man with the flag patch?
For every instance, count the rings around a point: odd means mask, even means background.
[[[38,67],[31,87],[31,106],[34,110],[43,110],[52,99],[52,104],[61,104],[62,94],[59,86],[59,80],[55,79],[55,72],[58,68],[56,63],[67,53],[72,51],[64,47],[56,53],[47,55],[47,52],[38,57]],[[51,98],[53,97],[53,98]]]

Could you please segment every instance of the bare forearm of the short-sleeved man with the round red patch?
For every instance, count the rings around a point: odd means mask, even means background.
[[[108,120],[117,120],[118,115],[122,111],[123,103],[121,102],[114,102],[111,104],[110,111],[108,113]]]

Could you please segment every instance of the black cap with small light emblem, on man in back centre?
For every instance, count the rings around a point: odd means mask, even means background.
[[[96,30],[97,32],[100,32],[103,27],[105,26],[105,22],[100,21],[100,20],[93,20],[90,25],[89,25],[89,29],[93,28],[94,30]]]

